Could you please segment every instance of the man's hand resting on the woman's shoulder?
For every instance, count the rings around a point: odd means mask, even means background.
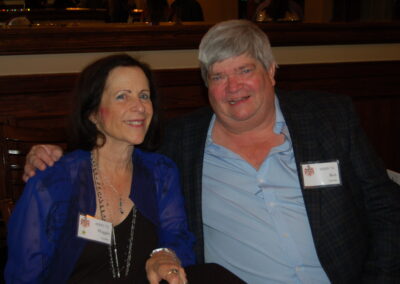
[[[61,158],[63,151],[56,145],[35,145],[26,156],[24,174],[22,179],[27,182],[35,175],[35,170],[44,170],[52,166],[55,161]]]

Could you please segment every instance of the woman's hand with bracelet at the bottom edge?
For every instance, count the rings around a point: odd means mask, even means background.
[[[169,284],[187,284],[185,270],[172,251],[152,254],[146,262],[146,272],[150,284],[158,284],[161,280]]]

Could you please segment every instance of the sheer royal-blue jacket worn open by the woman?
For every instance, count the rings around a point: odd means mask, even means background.
[[[178,170],[167,157],[135,149],[130,198],[157,228],[159,247],[194,264]],[[90,152],[77,150],[29,180],[8,225],[7,283],[64,283],[86,240],[78,216],[94,215],[96,193]]]

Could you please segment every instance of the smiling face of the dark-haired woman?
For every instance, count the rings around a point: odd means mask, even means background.
[[[106,144],[143,142],[153,116],[150,86],[139,67],[116,67],[108,75],[99,111],[92,121]]]

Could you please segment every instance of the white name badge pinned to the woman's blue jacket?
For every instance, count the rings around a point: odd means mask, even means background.
[[[111,244],[112,224],[90,215],[79,214],[78,237],[90,241]]]

